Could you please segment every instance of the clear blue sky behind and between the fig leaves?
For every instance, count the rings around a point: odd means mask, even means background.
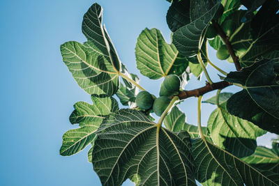
[[[74,126],[68,121],[73,104],[90,102],[61,60],[59,46],[68,40],[84,42],[81,24],[95,1],[0,1],[1,162],[0,185],[100,185],[87,162],[87,150],[71,157],[59,155],[62,135]],[[121,61],[140,75],[135,65],[135,42],[142,29],[156,27],[169,41],[164,0],[102,0],[104,23]],[[217,61],[212,53],[212,61]],[[223,68],[234,70],[233,65]],[[214,80],[216,71],[209,68]],[[162,79],[141,84],[158,95]],[[194,77],[195,79],[195,77]],[[191,81],[187,89],[204,85]],[[154,88],[155,87],[155,88]],[[236,89],[230,89],[236,91]],[[230,91],[227,88],[227,91]],[[214,93],[209,93],[209,98]],[[196,99],[181,106],[189,123],[196,123]],[[203,107],[203,123],[214,109]],[[274,137],[269,135],[270,137]],[[262,144],[268,143],[266,139]],[[130,183],[126,183],[130,185]]]

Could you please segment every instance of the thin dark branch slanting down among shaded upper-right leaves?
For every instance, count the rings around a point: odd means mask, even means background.
[[[229,54],[232,56],[232,60],[234,61],[234,65],[236,67],[236,70],[239,71],[241,70],[241,65],[239,63],[239,56],[236,56],[234,49],[232,48],[231,42],[229,42],[229,38],[223,31],[222,27],[218,22],[212,20],[212,24],[215,27],[218,35],[222,38],[222,40],[225,42],[225,45],[227,46],[227,50],[229,51]]]

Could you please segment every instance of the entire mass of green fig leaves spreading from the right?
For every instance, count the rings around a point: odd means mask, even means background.
[[[279,139],[273,148],[256,141],[266,132],[279,134],[278,11],[278,0],[170,1],[166,19],[172,43],[158,29],[146,28],[135,47],[142,75],[181,81],[178,91],[165,90],[167,103],[156,104],[162,111],[155,122],[152,107],[137,107],[136,98],[147,99],[137,94],[146,90],[121,63],[103,24],[103,8],[94,3],[82,22],[86,42],[61,45],[64,63],[93,104],[74,105],[70,123],[79,127],[63,134],[60,154],[74,155],[91,145],[89,162],[103,185],[121,185],[128,178],[136,185],[196,185],[195,180],[202,185],[279,185]],[[229,58],[224,59],[236,71],[214,65],[209,45],[225,49]],[[220,82],[212,82],[208,64],[222,74]],[[202,74],[206,86],[183,90],[191,75],[200,79]],[[227,86],[242,90],[221,93]],[[202,102],[202,95],[215,90],[216,96]],[[198,98],[197,125],[186,123],[178,105],[193,96]],[[116,97],[129,108],[119,109]],[[201,126],[202,103],[216,105],[207,127]]]

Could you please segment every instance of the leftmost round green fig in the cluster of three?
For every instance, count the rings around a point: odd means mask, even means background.
[[[137,94],[137,98],[135,99],[139,109],[150,109],[152,107],[153,101],[154,99],[152,95],[147,91],[141,91]]]

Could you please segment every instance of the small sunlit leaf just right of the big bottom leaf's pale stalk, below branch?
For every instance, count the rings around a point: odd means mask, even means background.
[[[181,130],[186,130],[191,138],[199,137],[197,126],[186,123],[185,114],[177,106],[173,107],[172,111],[165,117],[164,124],[170,131],[179,132]],[[202,132],[204,136],[210,138],[207,127],[202,127]]]

